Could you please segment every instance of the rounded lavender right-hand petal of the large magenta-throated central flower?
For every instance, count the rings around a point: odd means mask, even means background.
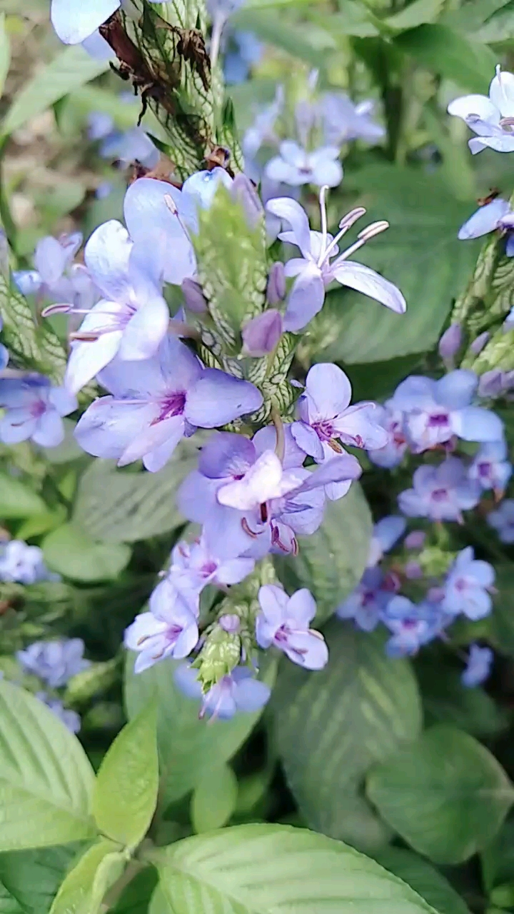
[[[215,429],[261,406],[261,392],[248,381],[230,377],[218,368],[206,368],[187,391],[184,415],[192,425]]]

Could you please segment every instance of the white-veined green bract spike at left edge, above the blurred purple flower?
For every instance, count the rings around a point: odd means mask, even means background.
[[[85,52],[84,52],[85,53]],[[48,321],[37,324],[27,299],[0,272],[2,341],[16,365],[40,371],[60,383],[67,357]]]

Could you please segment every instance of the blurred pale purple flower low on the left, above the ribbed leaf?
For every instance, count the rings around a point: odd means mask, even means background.
[[[39,676],[50,688],[61,688],[72,676],[91,666],[84,659],[81,638],[62,638],[59,641],[36,641],[16,657],[27,673]]]

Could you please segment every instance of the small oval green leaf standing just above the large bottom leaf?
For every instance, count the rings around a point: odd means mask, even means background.
[[[236,808],[238,780],[230,765],[213,768],[198,783],[191,799],[191,822],[197,834],[227,824]]]

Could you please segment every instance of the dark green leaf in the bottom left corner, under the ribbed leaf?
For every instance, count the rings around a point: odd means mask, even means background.
[[[0,854],[0,914],[48,914],[79,846]]]

